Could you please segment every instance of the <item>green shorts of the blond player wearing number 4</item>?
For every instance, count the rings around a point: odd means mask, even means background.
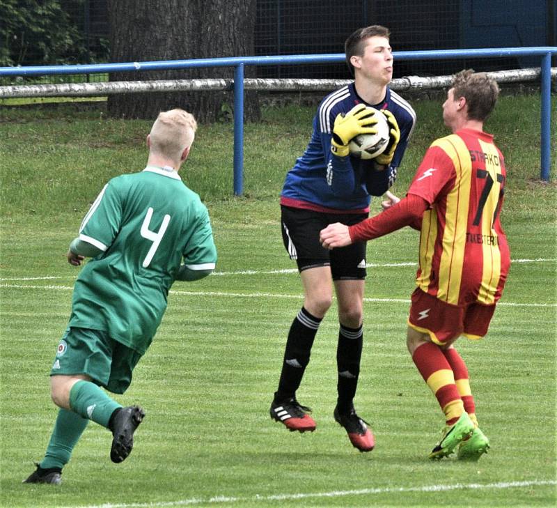
[[[102,330],[68,328],[58,344],[51,376],[84,374],[109,392],[124,393],[141,355]]]

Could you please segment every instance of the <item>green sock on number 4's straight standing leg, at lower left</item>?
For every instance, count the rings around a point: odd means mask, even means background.
[[[62,469],[70,460],[72,450],[88,423],[89,420],[81,418],[77,413],[60,409],[48,442],[47,453],[40,467]]]

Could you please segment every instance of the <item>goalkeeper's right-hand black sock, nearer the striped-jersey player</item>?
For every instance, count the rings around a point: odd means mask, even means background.
[[[338,401],[339,413],[349,413],[356,395],[360,375],[360,359],[363,344],[362,327],[348,328],[340,325],[336,364],[338,367]]]

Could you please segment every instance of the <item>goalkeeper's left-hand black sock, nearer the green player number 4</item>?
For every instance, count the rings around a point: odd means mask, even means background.
[[[284,351],[281,379],[274,394],[276,402],[295,397],[309,363],[311,346],[320,323],[321,319],[312,316],[304,307],[292,321]]]

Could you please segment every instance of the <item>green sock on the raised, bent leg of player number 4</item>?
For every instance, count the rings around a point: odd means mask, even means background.
[[[70,408],[78,415],[107,429],[112,413],[121,407],[91,381],[77,381],[70,390]]]

